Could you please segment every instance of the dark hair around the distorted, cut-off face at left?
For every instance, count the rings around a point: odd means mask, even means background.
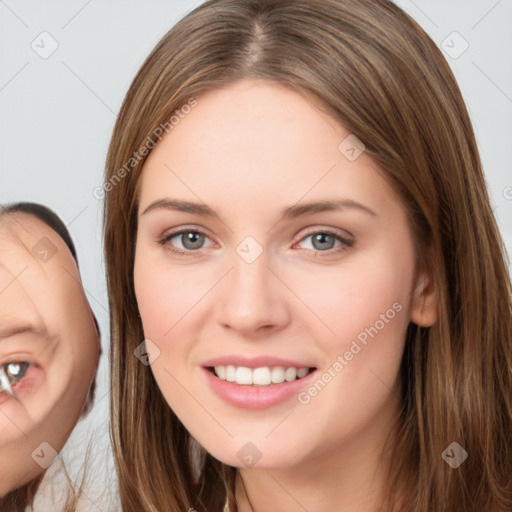
[[[71,235],[68,231],[68,228],[62,221],[62,219],[50,208],[47,206],[44,206],[39,203],[31,203],[31,202],[17,202],[17,203],[10,203],[7,205],[0,205],[0,217],[2,217],[5,214],[15,214],[15,213],[24,213],[27,215],[33,215],[40,221],[44,222],[47,226],[49,226],[53,231],[55,231],[64,241],[66,246],[68,247],[69,251],[71,252],[71,255],[73,256],[73,259],[75,260],[76,266],[79,269],[78,265],[78,257],[76,253],[75,244],[73,243],[73,239],[71,238]],[[80,271],[80,269],[79,269]],[[94,314],[94,311],[91,308],[91,314],[94,321],[94,325],[96,326],[96,331],[98,333],[98,338],[101,339],[101,331],[100,326],[98,324],[98,320],[96,319],[96,315]],[[99,347],[99,355],[100,357],[102,354],[101,349],[101,343]],[[96,375],[94,374],[93,381],[91,382],[91,386],[89,388],[89,393],[87,394],[87,398],[84,404],[84,407],[82,409],[82,413],[80,415],[81,418],[84,418],[89,411],[92,409],[92,404],[94,402],[94,396],[96,392]],[[64,468],[65,470],[65,468]],[[67,473],[66,473],[67,474]],[[0,507],[1,512],[23,512],[26,507],[33,506],[33,502],[37,493],[37,490],[39,489],[39,486],[41,485],[41,482],[43,481],[44,473],[36,476],[34,479],[32,479],[30,482],[27,482],[23,486],[19,487],[18,489],[15,489],[14,491],[8,493],[3,498],[0,498]],[[69,479],[69,478],[68,478]],[[76,498],[71,498],[71,503],[76,502]],[[69,510],[73,510],[73,506],[68,507]]]

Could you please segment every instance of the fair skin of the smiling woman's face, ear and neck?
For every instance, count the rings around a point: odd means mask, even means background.
[[[134,281],[145,337],[160,350],[151,369],[192,436],[240,468],[251,503],[237,478],[241,512],[374,511],[406,329],[436,320],[406,212],[365,152],[349,161],[338,150],[347,135],[311,98],[244,80],[199,97],[139,182]],[[155,204],[169,199],[206,204],[219,218]],[[328,199],[363,207],[280,220],[285,207]],[[168,237],[181,228],[205,237]],[[311,236],[326,230],[341,239],[325,247]],[[247,236],[262,249],[251,263],[237,253]],[[338,356],[376,325],[332,376]],[[209,385],[204,363],[221,356],[314,367],[306,392],[329,368],[332,378],[308,403],[294,393],[251,409]],[[237,455],[248,442],[261,454],[255,464]]]

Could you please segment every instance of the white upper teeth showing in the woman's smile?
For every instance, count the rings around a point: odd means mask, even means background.
[[[247,368],[246,366],[215,366],[215,374],[219,379],[236,382],[241,385],[270,386],[281,384],[285,380],[291,382],[301,379],[309,373],[309,368],[285,368],[284,366],[262,366]]]

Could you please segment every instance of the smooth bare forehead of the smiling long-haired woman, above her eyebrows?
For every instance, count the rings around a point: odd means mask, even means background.
[[[397,197],[371,156],[343,153],[349,135],[319,100],[281,84],[242,80],[213,89],[149,154],[137,184],[139,213],[164,193],[206,201],[231,218],[231,228],[267,218],[274,225],[302,198],[394,211]]]

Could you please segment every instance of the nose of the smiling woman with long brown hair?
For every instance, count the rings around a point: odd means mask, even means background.
[[[231,271],[223,279],[217,302],[218,321],[244,337],[257,337],[283,329],[290,322],[286,286],[269,268],[265,251],[248,263],[233,256]]]

